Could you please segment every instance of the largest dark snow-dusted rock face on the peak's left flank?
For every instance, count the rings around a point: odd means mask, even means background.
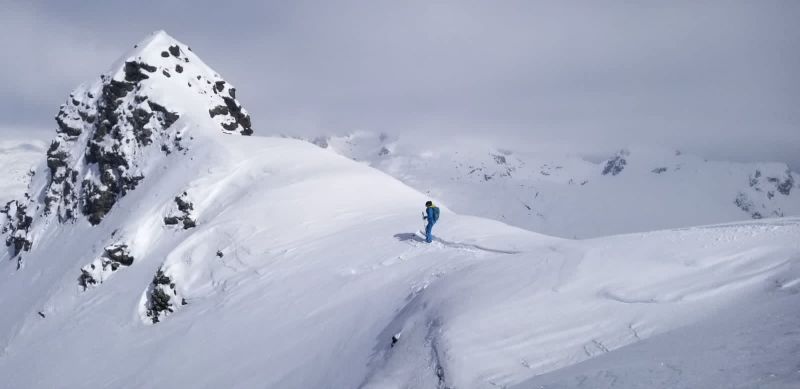
[[[48,150],[51,183],[45,212],[55,211],[62,222],[71,221],[80,212],[90,223],[102,221],[114,204],[136,188],[144,176],[136,169],[135,155],[164,134],[179,116],[150,101],[140,91],[140,82],[150,78],[156,67],[139,62],[125,62],[124,79],[103,77],[99,96],[84,91],[80,104],[64,105],[56,116],[59,135]],[[86,166],[79,164],[72,152],[77,136],[89,132],[85,147]],[[94,165],[99,177],[86,178],[77,185],[79,170]]]

